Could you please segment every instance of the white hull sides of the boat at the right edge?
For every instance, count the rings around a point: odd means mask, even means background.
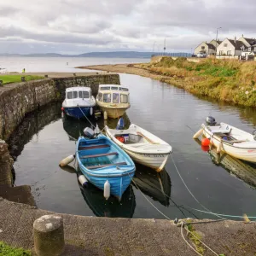
[[[233,128],[236,129],[235,127],[232,127],[232,129]],[[246,160],[249,162],[256,162],[256,147],[241,148],[241,145],[242,145],[241,143],[234,143],[234,144],[226,143],[223,139],[221,139],[220,137],[216,136],[214,133],[209,131],[206,125],[202,125],[202,129],[203,129],[203,135],[209,138],[212,145],[214,145],[216,148],[220,148],[221,151],[227,154],[230,154],[231,156],[236,157],[238,159]],[[235,131],[241,131],[241,130],[236,129]],[[241,131],[241,132],[247,133],[245,131]],[[247,137],[251,139],[253,136],[247,133]],[[255,143],[255,146],[256,146],[256,143]]]

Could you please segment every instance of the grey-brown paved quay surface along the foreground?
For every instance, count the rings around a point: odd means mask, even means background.
[[[0,241],[15,247],[32,248],[34,220],[50,213],[53,212],[0,198]],[[64,219],[67,244],[63,255],[196,255],[183,241],[180,228],[171,221],[60,215]],[[255,224],[224,221],[194,224],[194,227],[203,241],[225,256],[253,256],[256,253]],[[206,251],[204,255],[212,253]]]

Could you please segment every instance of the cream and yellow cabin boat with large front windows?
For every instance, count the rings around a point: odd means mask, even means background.
[[[129,89],[125,86],[100,84],[96,103],[102,109],[105,119],[118,119],[130,108],[129,96]]]

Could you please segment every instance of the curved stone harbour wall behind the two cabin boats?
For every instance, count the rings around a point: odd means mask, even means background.
[[[119,82],[118,74],[98,74],[6,84],[0,88],[0,139],[7,140],[26,113],[37,110],[49,102],[63,100],[67,87],[87,86],[96,96],[99,84]]]

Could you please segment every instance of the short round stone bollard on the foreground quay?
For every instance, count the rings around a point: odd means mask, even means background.
[[[38,256],[58,256],[64,251],[63,219],[58,215],[44,215],[33,224],[35,252]]]

